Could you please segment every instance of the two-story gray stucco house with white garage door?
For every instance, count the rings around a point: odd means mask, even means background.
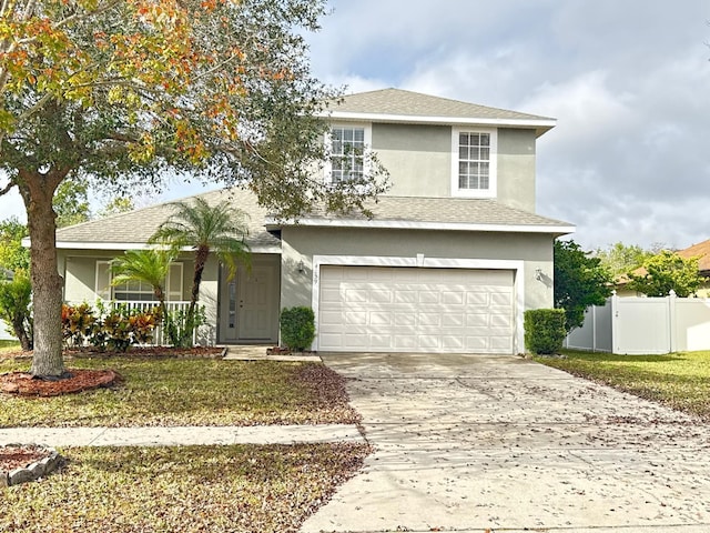
[[[209,263],[206,341],[277,343],[281,309],[308,305],[318,351],[521,352],[524,311],[552,306],[552,242],[574,231],[535,212],[536,142],[555,120],[396,89],[348,95],[324,120],[341,147],[377,154],[390,190],[372,219],[297,223],[271,219],[245,191],[204,194],[248,213],[253,251],[251,273],[231,280]],[[59,230],[65,300],[152,298],[111,286],[109,262],[145,248],[170,209]],[[170,300],[186,300],[191,275],[185,255]]]

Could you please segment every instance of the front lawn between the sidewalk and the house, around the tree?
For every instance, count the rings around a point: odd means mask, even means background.
[[[0,373],[29,360],[0,359]],[[91,356],[68,368],[112,369],[123,382],[57,398],[0,394],[1,426],[352,423],[343,380],[320,363]]]

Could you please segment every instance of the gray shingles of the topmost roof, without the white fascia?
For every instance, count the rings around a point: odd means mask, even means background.
[[[363,114],[393,114],[406,117],[445,117],[450,119],[490,119],[551,121],[548,117],[520,113],[506,109],[489,108],[475,103],[433,97],[402,89],[382,89],[378,91],[348,94],[332,107],[334,112]]]

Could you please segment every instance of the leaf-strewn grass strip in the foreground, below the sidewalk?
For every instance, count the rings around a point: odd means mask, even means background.
[[[359,469],[364,444],[77,447],[0,490],[0,531],[296,532]]]

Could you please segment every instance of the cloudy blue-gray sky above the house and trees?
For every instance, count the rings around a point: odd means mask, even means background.
[[[710,239],[707,0],[331,0],[314,74],[557,119],[537,212],[587,250]],[[173,184],[154,200],[197,192]],[[0,219],[23,212],[0,198]]]

